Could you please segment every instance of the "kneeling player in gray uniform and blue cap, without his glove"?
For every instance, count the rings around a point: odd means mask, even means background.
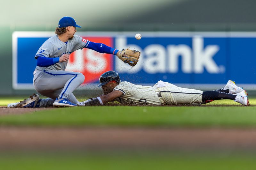
[[[77,27],[81,26],[76,24],[74,18],[61,18],[55,31],[57,35],[45,41],[35,55],[37,66],[33,84],[38,93],[48,98],[40,99],[38,94],[33,94],[18,103],[18,107],[81,105],[72,92],[84,82],[84,75],[79,72],[65,71],[69,55],[78,49],[90,48],[100,53],[117,55],[120,59],[127,56],[124,52],[105,44],[94,43],[74,35]]]

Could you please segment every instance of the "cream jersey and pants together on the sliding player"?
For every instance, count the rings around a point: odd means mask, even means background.
[[[153,87],[120,82],[114,90],[123,93],[118,99],[128,105],[200,105],[203,91],[177,87],[168,82],[158,81]]]

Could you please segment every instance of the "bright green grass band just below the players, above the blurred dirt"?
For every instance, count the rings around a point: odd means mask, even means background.
[[[8,100],[17,101],[17,98]],[[33,114],[2,115],[0,125],[256,127],[256,107],[253,107],[256,106],[256,99],[250,99],[250,101],[252,105],[250,107],[244,107],[232,100],[219,100],[199,107],[53,108],[33,112]]]

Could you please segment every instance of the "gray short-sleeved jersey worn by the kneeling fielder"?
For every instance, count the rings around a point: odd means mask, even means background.
[[[35,58],[42,57],[61,57],[63,54],[71,54],[78,49],[87,47],[90,41],[83,39],[78,35],[67,41],[60,41],[58,35],[55,35],[44,42],[37,51]],[[65,70],[68,62],[56,63],[48,67],[36,66],[35,70]]]

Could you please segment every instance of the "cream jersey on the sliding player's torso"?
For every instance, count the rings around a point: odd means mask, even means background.
[[[134,85],[130,82],[122,81],[114,88],[114,90],[119,90],[123,93],[123,95],[119,97],[119,100],[122,104],[135,106],[162,105],[156,94],[155,87]]]

